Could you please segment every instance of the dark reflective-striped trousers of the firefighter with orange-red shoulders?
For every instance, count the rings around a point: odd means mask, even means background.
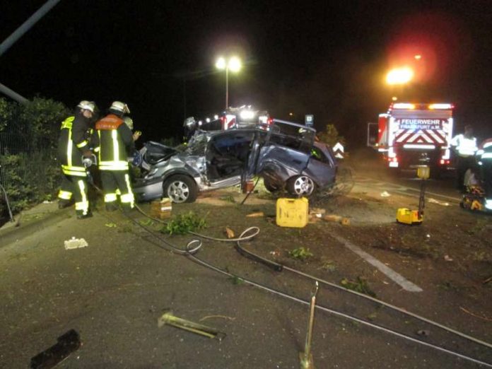
[[[123,209],[133,209],[135,200],[128,170],[101,170],[100,173],[105,204],[116,204],[119,195]]]

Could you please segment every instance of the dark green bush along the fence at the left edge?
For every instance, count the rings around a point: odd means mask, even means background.
[[[61,102],[34,98],[25,105],[0,98],[0,180],[14,212],[54,198],[59,127],[70,111]],[[6,216],[0,196],[0,218]]]

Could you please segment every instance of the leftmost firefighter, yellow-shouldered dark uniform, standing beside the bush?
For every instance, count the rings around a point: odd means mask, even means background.
[[[93,101],[81,101],[76,107],[75,114],[61,123],[58,142],[58,159],[63,173],[58,193],[58,207],[63,209],[69,206],[73,198],[78,219],[92,216],[87,196],[86,168],[92,164],[89,139],[95,108]]]

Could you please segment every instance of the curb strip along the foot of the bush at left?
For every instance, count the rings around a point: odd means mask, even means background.
[[[26,223],[23,225],[18,225],[17,227],[6,228],[5,230],[0,230],[0,248],[11,245],[11,243],[21,240],[28,235],[33,234],[35,231],[40,228],[46,228],[49,225],[53,225],[58,221],[67,218],[67,214],[73,211],[72,206],[66,209],[57,210],[53,213],[49,213],[44,218],[41,218],[36,221],[31,221],[30,223]]]

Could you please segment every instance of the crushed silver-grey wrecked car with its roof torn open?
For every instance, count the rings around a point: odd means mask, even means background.
[[[139,201],[169,197],[175,203],[193,202],[199,192],[259,176],[270,192],[287,189],[310,196],[334,185],[337,167],[331,148],[315,142],[315,132],[274,120],[269,131],[197,131],[187,146],[178,148],[146,143],[146,170],[134,182],[134,193]]]

